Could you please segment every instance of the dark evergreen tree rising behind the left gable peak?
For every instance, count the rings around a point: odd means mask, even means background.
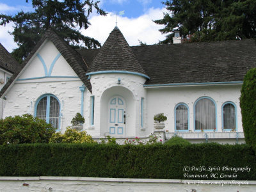
[[[36,43],[48,28],[54,29],[68,44],[76,48],[100,47],[100,43],[94,38],[84,36],[77,29],[87,29],[90,25],[88,16],[93,8],[100,15],[106,15],[106,12],[98,6],[99,1],[93,0],[31,0],[35,12],[20,11],[14,16],[0,15],[0,24],[13,22],[15,24],[14,41],[19,46],[14,49],[12,54],[18,60],[22,61],[33,49]],[[28,0],[26,0],[28,3]],[[81,44],[83,42],[83,45]]]

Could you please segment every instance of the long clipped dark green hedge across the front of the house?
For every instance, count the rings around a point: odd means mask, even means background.
[[[237,178],[222,179],[256,180],[256,158],[248,145],[22,144],[2,145],[0,154],[1,176],[195,179],[184,178],[184,166],[248,166],[250,172],[237,172]],[[211,172],[191,171],[189,174],[209,175]]]

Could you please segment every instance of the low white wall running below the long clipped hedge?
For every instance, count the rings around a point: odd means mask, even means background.
[[[0,191],[253,192],[253,180],[122,179],[95,177],[0,177]]]

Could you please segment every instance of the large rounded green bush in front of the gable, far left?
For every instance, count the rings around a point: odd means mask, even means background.
[[[55,132],[51,124],[29,114],[0,120],[0,144],[48,143]]]

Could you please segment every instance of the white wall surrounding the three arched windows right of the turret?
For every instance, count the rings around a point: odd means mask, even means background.
[[[194,131],[194,104],[199,97],[211,97],[216,102],[217,130],[221,132],[221,106],[231,101],[237,109],[237,131],[243,131],[239,107],[241,85],[182,86],[168,88],[147,88],[148,130],[154,130],[154,115],[167,116],[165,130],[174,132],[174,108],[180,102],[189,106],[189,129]]]

